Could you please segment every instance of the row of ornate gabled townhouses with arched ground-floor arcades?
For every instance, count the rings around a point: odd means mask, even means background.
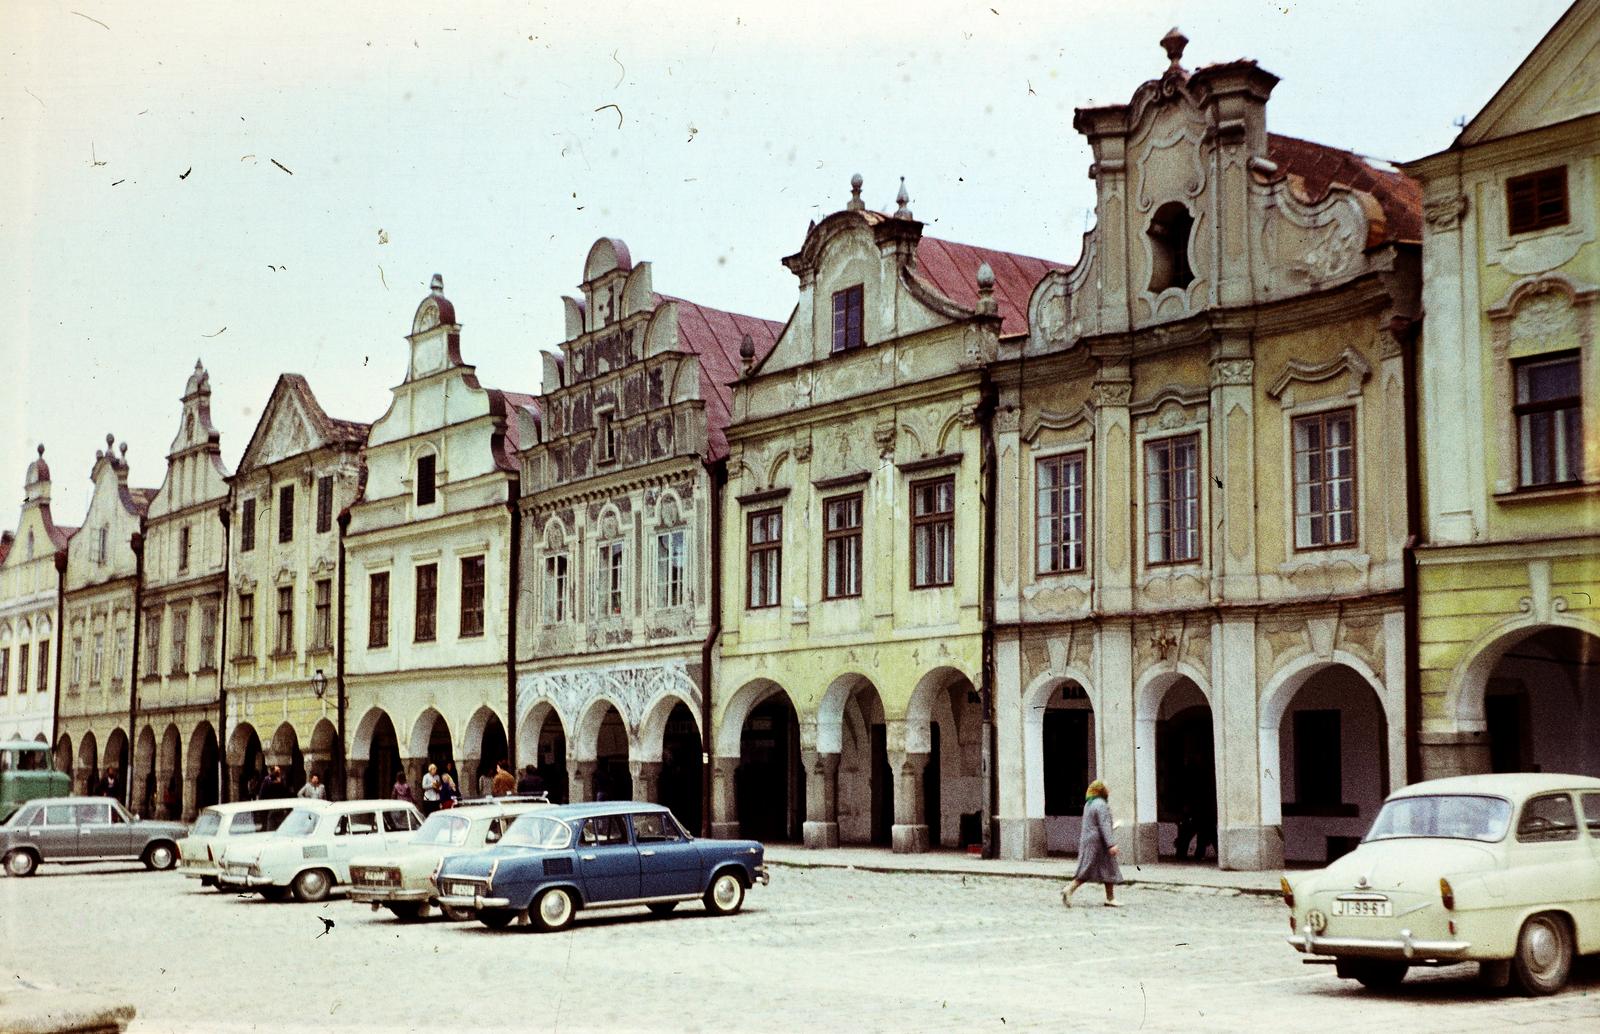
[[[0,736],[184,816],[267,765],[384,796],[507,760],[718,834],[1013,858],[1070,850],[1102,778],[1131,858],[1214,816],[1243,869],[1347,850],[1410,780],[1595,773],[1597,45],[1579,0],[1402,171],[1270,133],[1277,77],[1174,30],[1077,112],[1075,264],[856,178],[778,323],[602,238],[538,394],[477,381],[435,277],[387,413],[283,375],[232,474],[197,365],[160,490],[107,440],[72,535],[29,469]]]

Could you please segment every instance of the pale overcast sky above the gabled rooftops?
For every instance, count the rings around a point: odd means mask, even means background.
[[[589,246],[786,320],[850,176],[934,237],[1077,259],[1072,112],[1187,67],[1282,77],[1272,131],[1450,146],[1568,0],[0,0],[0,527],[38,443],[75,525],[106,435],[157,487],[202,359],[232,469],[282,371],[371,421],[432,274],[483,384],[538,391]],[[451,10],[459,8],[459,10]]]

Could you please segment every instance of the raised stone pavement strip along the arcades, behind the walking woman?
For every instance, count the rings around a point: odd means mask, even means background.
[[[773,866],[797,869],[861,869],[866,872],[944,872],[952,876],[1013,876],[1067,882],[1077,871],[1077,858],[1027,858],[1011,861],[986,860],[965,852],[928,852],[925,855],[896,855],[882,847],[837,847],[806,850],[789,844],[766,845],[766,861]],[[1266,872],[1229,872],[1198,863],[1162,861],[1155,864],[1123,864],[1122,876],[1128,884],[1147,887],[1171,887],[1184,890],[1210,890],[1216,893],[1240,893],[1277,896],[1277,869]]]

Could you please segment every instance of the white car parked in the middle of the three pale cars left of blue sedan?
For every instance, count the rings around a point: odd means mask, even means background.
[[[275,832],[243,837],[222,852],[219,885],[282,901],[322,901],[350,882],[350,858],[402,847],[422,824],[405,800],[299,802]]]

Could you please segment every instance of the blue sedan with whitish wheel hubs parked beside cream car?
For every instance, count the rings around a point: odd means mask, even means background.
[[[664,916],[680,901],[714,916],[744,906],[766,884],[755,840],[701,840],[659,804],[606,800],[523,815],[491,850],[445,858],[434,874],[438,903],[490,928],[526,917],[562,930],[581,909],[646,906]]]

